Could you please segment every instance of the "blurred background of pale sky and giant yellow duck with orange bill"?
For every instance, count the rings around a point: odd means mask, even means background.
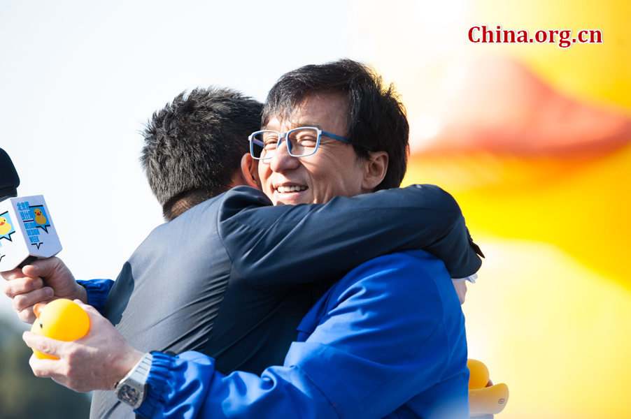
[[[404,184],[453,193],[485,253],[464,310],[470,358],[511,391],[497,417],[630,418],[630,3],[222,3],[0,0],[0,147],[76,277],[116,277],[162,222],[138,162],[155,110],[211,84],[264,100],[285,71],[350,57],[406,105]],[[603,42],[471,43],[481,25]],[[42,398],[59,386],[31,376],[6,297],[0,315],[1,416],[68,417],[29,411],[62,397],[85,416],[85,395]]]

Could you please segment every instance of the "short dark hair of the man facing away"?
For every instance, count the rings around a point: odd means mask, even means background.
[[[229,189],[261,126],[262,103],[232,89],[183,91],[143,131],[141,163],[164,218]],[[174,208],[185,199],[187,207]]]

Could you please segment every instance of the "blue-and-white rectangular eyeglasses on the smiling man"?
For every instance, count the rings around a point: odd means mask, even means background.
[[[271,159],[274,157],[274,152],[281,145],[281,142],[287,140],[287,151],[290,156],[311,156],[311,154],[315,154],[318,151],[322,136],[346,144],[355,144],[348,138],[327,133],[327,131],[322,131],[320,128],[315,128],[315,126],[300,126],[299,128],[290,129],[286,133],[266,129],[255,131],[248,137],[248,140],[250,140],[250,154],[257,160]]]

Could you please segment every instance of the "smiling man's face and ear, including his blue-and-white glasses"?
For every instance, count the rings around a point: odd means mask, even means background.
[[[253,155],[259,154],[262,161],[261,188],[274,205],[327,203],[335,196],[371,192],[381,182],[388,153],[359,158],[343,137],[346,115],[343,94],[311,94],[290,120],[272,117],[264,131],[251,135]],[[280,142],[288,146],[277,150],[279,131],[285,133]]]

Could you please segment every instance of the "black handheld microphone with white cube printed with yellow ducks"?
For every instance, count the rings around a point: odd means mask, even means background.
[[[49,258],[62,250],[41,195],[17,197],[20,177],[0,149],[0,272]]]

